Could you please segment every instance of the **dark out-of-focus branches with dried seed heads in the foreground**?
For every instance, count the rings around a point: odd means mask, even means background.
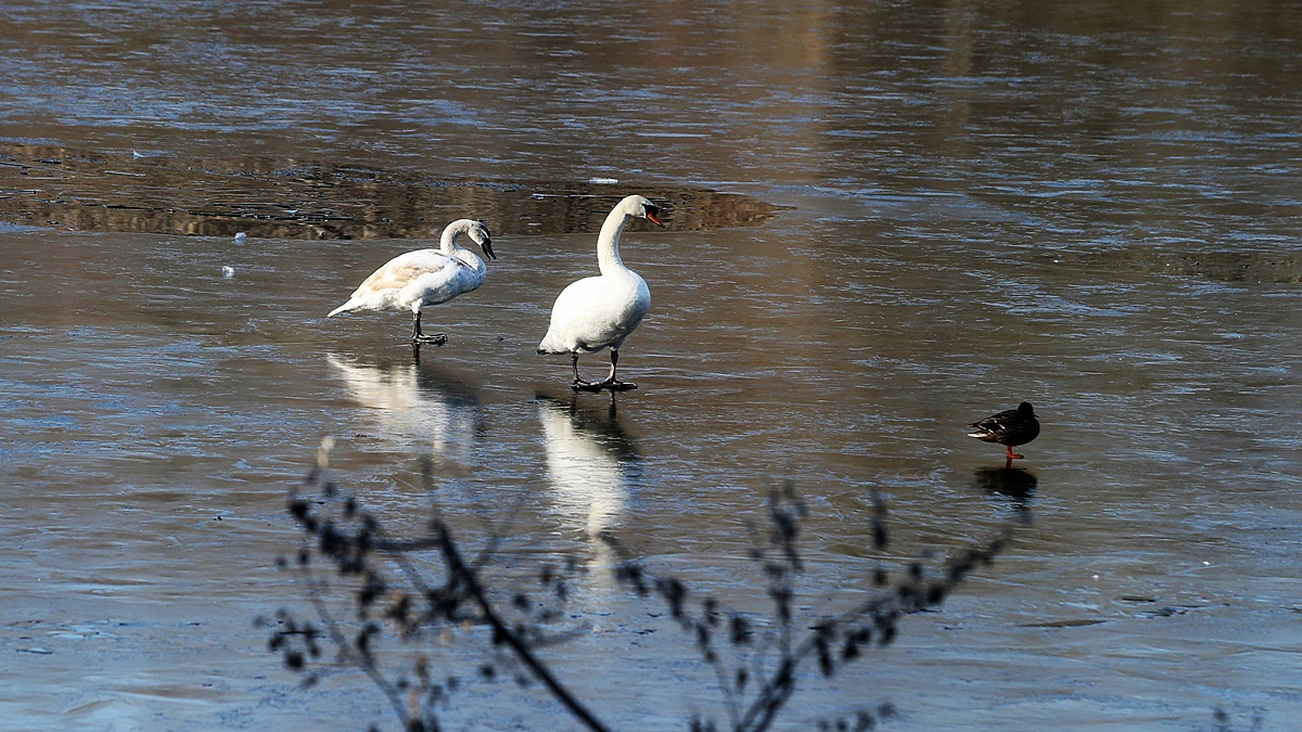
[[[271,649],[284,656],[285,666],[306,671],[309,663],[319,660],[318,640],[326,637],[339,649],[341,662],[362,669],[384,693],[405,729],[432,732],[439,729],[436,706],[458,686],[458,677],[449,675],[443,684],[435,683],[430,660],[423,655],[414,664],[415,684],[405,677],[388,676],[376,656],[384,626],[395,628],[400,640],[413,641],[434,628],[443,628],[447,634],[454,628],[483,624],[491,629],[493,649],[508,651],[499,654],[501,660],[513,659],[522,666],[587,729],[608,729],[536,654],[536,649],[547,642],[542,626],[559,613],[547,607],[535,610],[535,603],[522,591],[513,593],[510,603],[492,599],[503,589],[486,584],[486,570],[500,561],[504,551],[501,537],[492,535],[473,563],[466,561],[465,546],[458,543],[437,511],[426,526],[427,535],[401,541],[385,537],[374,514],[323,478],[328,449],[329,443],[323,443],[318,464],[305,481],[319,490],[322,499],[314,503],[297,491],[290,495],[289,513],[303,530],[305,543],[296,563],[281,561],[283,567],[297,570],[302,577],[324,630],[310,623],[301,624],[281,611]],[[427,481],[431,478],[427,462],[422,465],[422,473]],[[602,535],[621,557],[616,578],[639,597],[658,595],[668,606],[673,621],[694,637],[698,653],[715,672],[729,728],[734,732],[768,729],[797,692],[802,669],[812,662],[816,660],[822,676],[829,677],[842,666],[862,659],[865,649],[889,645],[904,616],[941,604],[971,570],[991,563],[1003,551],[1009,535],[1009,529],[1005,529],[984,544],[966,550],[947,563],[939,577],[928,577],[921,563],[913,563],[892,585],[889,573],[879,564],[871,574],[878,590],[875,597],[841,613],[802,624],[797,620],[794,603],[797,580],[805,570],[798,539],[801,522],[806,518],[805,504],[788,483],[769,499],[769,530],[760,533],[751,528],[754,546],[750,557],[764,578],[772,608],[769,617],[755,620],[723,608],[713,597],[697,600],[682,581],[651,574],[639,561],[630,559],[630,552],[613,535]],[[885,504],[876,494],[872,495],[870,528],[874,548],[884,552],[889,539]],[[418,567],[417,556],[422,554],[436,560],[432,567],[427,567],[430,563],[426,561]],[[331,611],[327,603],[329,586],[314,569],[314,556],[328,559],[333,572],[340,578],[348,578],[346,584],[355,590],[359,625],[355,633],[345,632],[350,624]],[[391,584],[381,570],[385,563],[397,567],[404,585]],[[566,570],[574,572],[575,565]],[[568,599],[566,570],[544,567],[539,572],[539,585],[551,591],[555,602]],[[430,573],[437,580],[427,580],[424,574]],[[518,620],[509,620],[508,612]],[[383,623],[375,620],[376,613]],[[724,647],[730,650],[724,653]],[[488,679],[496,676],[492,663],[482,664],[479,671]],[[305,679],[311,683],[315,675]],[[517,679],[523,683],[525,677]],[[849,722],[822,720],[822,727],[865,731],[893,714],[894,709],[885,703],[875,710],[858,710]],[[717,729],[712,720],[700,718],[691,719],[691,728],[700,732]]]

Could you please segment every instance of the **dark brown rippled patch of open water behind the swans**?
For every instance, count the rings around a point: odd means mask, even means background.
[[[82,231],[258,238],[428,238],[464,216],[495,234],[600,229],[630,193],[663,204],[671,229],[758,225],[776,208],[682,186],[566,181],[453,182],[241,158],[178,160],[0,143],[0,220]]]

